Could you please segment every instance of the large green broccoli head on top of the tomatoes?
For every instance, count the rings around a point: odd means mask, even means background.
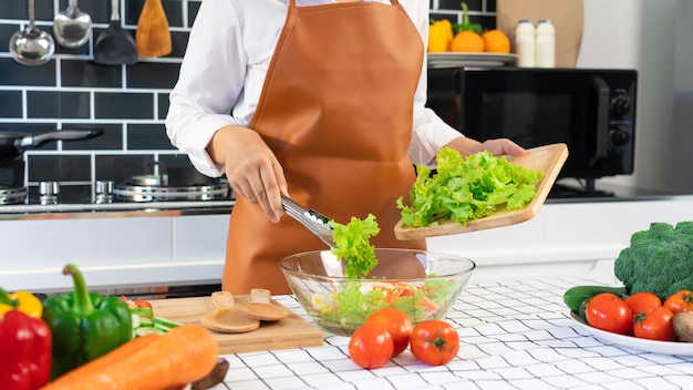
[[[693,222],[676,227],[653,223],[649,230],[634,233],[613,273],[629,294],[650,291],[666,299],[679,290],[693,290]]]

